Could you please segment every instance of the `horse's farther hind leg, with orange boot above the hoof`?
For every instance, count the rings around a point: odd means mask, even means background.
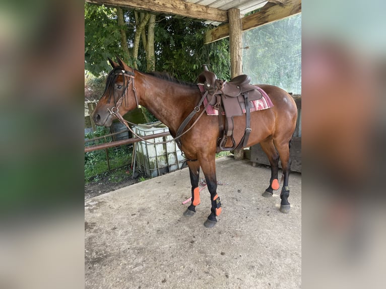
[[[279,170],[279,154],[277,153],[272,137],[266,138],[260,142],[264,153],[266,153],[271,164],[271,179],[270,185],[263,193],[264,197],[272,197],[274,190],[279,189],[278,170]]]

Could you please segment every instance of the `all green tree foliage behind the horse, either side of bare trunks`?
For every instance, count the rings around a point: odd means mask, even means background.
[[[125,11],[126,25],[119,27],[114,8],[85,3],[85,69],[93,75],[108,73],[111,67],[107,57],[119,55],[127,64],[133,59],[123,54],[122,45],[133,47],[135,35],[134,11]],[[126,32],[127,43],[120,43],[120,31]],[[204,45],[208,25],[187,18],[157,16],[155,25],[155,70],[167,71],[175,78],[195,82],[208,64],[218,78],[229,79],[229,40],[223,39]],[[146,52],[140,45],[137,64],[145,71]]]

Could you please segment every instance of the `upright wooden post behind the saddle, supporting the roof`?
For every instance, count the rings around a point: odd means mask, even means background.
[[[229,9],[229,47],[230,47],[230,73],[231,78],[242,74],[242,25],[240,10],[237,8]],[[244,159],[244,151],[235,150],[234,158],[238,160]]]

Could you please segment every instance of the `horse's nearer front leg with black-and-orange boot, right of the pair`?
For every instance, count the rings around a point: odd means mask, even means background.
[[[217,216],[221,213],[220,197],[217,194],[217,178],[216,178],[216,156],[211,154],[199,158],[201,169],[207,181],[208,190],[211,194],[211,214],[205,221],[204,226],[213,228],[217,224]]]

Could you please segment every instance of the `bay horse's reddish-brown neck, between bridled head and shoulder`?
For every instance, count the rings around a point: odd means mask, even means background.
[[[152,78],[143,86],[141,104],[175,134],[188,113],[197,105],[199,90]]]

